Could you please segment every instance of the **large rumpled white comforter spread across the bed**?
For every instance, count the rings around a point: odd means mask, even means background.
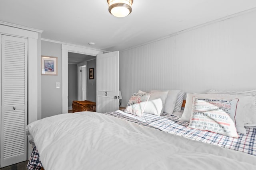
[[[256,170],[256,156],[95,112],[29,124],[45,170]]]

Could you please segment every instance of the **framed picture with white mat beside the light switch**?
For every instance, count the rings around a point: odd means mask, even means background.
[[[57,57],[41,56],[41,74],[57,75]]]

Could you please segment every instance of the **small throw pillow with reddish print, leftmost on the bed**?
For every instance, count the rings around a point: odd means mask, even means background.
[[[149,96],[150,94],[148,93],[134,93],[124,112],[142,117]]]

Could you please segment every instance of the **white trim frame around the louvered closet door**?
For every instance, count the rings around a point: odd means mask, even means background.
[[[28,124],[41,119],[41,33],[33,29],[0,21],[0,34],[28,38]],[[28,143],[27,159],[32,147]]]

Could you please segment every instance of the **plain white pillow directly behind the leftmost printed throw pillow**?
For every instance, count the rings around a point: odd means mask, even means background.
[[[139,90],[139,93],[146,93]],[[164,112],[164,104],[168,95],[168,91],[150,93],[150,97],[144,113],[160,116]]]

